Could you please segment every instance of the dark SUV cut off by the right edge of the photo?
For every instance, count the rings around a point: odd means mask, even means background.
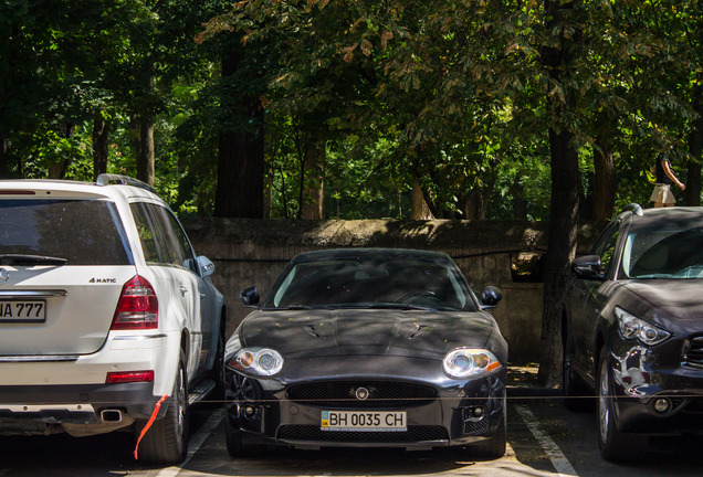
[[[598,395],[608,460],[641,456],[652,434],[703,431],[703,208],[621,213],[573,263],[564,390]]]

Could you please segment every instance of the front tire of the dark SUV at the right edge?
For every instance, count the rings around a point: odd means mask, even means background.
[[[636,460],[644,457],[649,438],[641,434],[622,433],[617,426],[612,378],[608,351],[601,350],[598,365],[598,446],[604,459]]]

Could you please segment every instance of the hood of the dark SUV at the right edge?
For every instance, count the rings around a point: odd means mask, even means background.
[[[700,279],[632,280],[625,287],[680,320],[703,316],[703,282]]]

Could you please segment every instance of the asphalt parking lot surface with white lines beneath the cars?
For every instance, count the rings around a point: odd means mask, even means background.
[[[232,459],[224,445],[224,412],[219,403],[211,403],[193,409],[190,453],[178,466],[148,467],[135,462],[132,434],[13,436],[0,437],[0,477],[697,477],[703,473],[703,439],[692,436],[652,439],[647,458],[640,462],[616,465],[602,460],[595,406],[580,413],[567,411],[559,390],[538,385],[534,367],[511,370],[507,403],[507,452],[495,460],[476,459],[463,448],[276,448],[255,458]]]

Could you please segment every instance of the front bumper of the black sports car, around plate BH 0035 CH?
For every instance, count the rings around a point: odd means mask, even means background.
[[[360,367],[363,369],[363,367]],[[417,368],[416,368],[417,369]],[[420,373],[421,374],[421,373]],[[230,371],[227,414],[232,428],[239,430],[248,444],[277,444],[301,448],[319,447],[405,447],[427,449],[468,445],[495,435],[505,415],[505,375],[495,373],[469,381],[449,379],[420,380],[392,375],[328,375],[314,380],[253,379]],[[313,385],[316,389],[358,386],[397,390],[432,390],[432,398],[395,399],[359,403],[330,400],[323,393],[316,399],[301,399],[292,390]],[[348,393],[347,393],[348,394]],[[322,427],[323,411],[405,411],[406,431],[329,431]]]

